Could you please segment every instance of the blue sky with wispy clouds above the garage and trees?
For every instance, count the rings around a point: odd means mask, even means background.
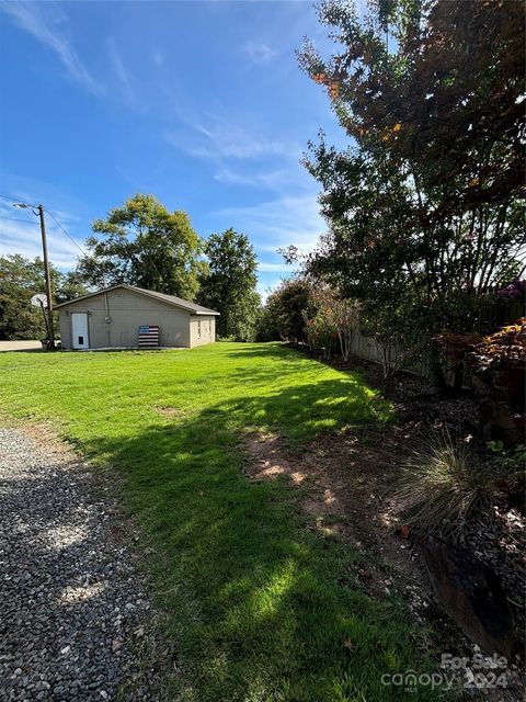
[[[43,202],[80,244],[153,193],[202,236],[245,233],[264,293],[288,271],[276,249],[308,250],[324,228],[307,141],[343,139],[297,66],[305,35],[327,45],[302,1],[0,3],[0,193]],[[68,268],[79,251],[48,224]],[[39,254],[36,225],[1,200],[0,254]]]

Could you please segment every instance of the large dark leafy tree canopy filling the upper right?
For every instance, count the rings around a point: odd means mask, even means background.
[[[330,230],[308,268],[400,332],[466,330],[522,269],[524,8],[368,4],[322,2],[338,49],[300,54],[352,139],[311,146]]]

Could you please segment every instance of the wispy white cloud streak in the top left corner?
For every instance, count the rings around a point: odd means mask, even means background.
[[[43,8],[46,7],[46,11]],[[48,3],[0,2],[0,10],[20,29],[32,34],[41,44],[58,56],[69,76],[94,95],[101,95],[103,87],[93,78],[77,54],[65,31],[66,18],[56,8],[47,10]]]

